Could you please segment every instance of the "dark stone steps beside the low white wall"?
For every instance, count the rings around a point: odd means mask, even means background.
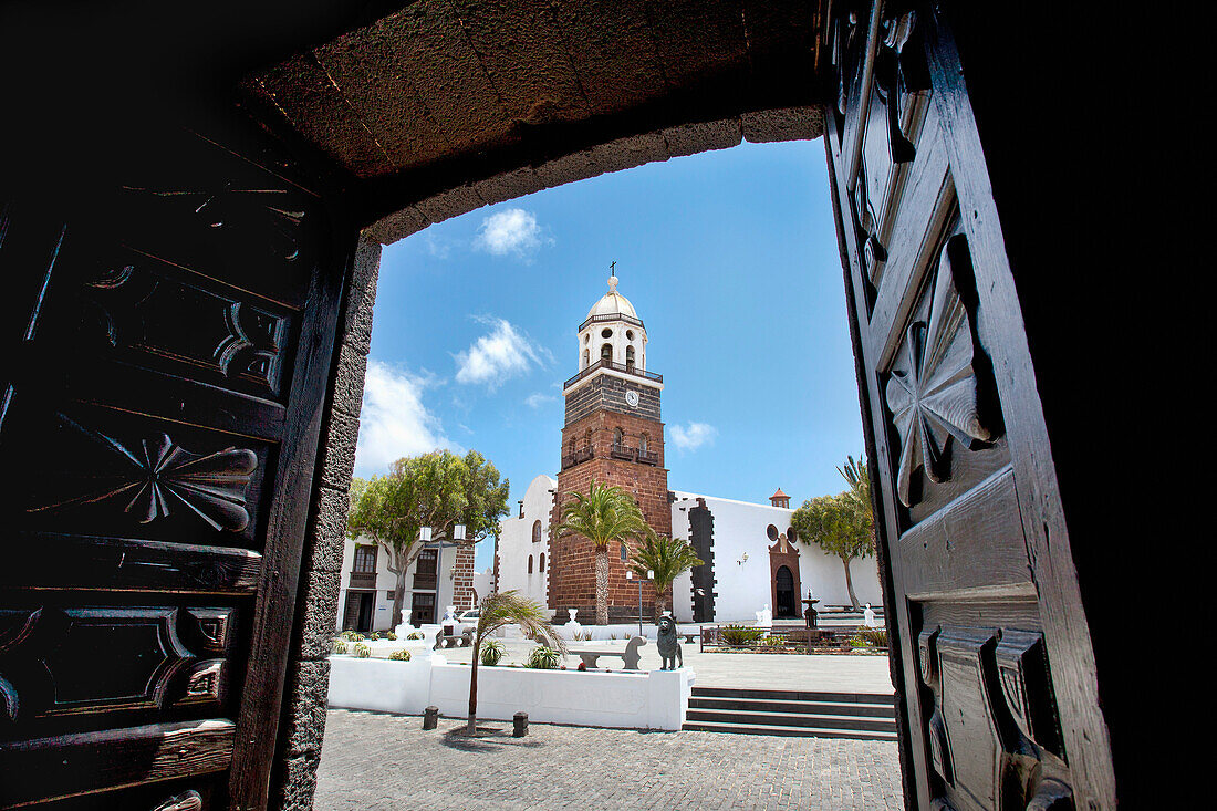
[[[694,687],[684,729],[896,740],[893,697]]]

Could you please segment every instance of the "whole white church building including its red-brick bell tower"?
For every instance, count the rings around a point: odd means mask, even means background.
[[[518,589],[566,622],[573,609],[595,616],[595,550],[574,533],[554,535],[562,504],[591,482],[630,493],[660,535],[688,539],[703,561],[673,583],[671,608],[680,621],[752,620],[769,606],[774,617],[797,617],[808,591],[820,606],[848,604],[841,561],[800,543],[790,525],[790,497],[779,488],[769,504],[673,491],[666,468],[661,397],[663,376],[646,367],[646,326],[617,292],[617,276],[577,330],[578,373],[562,387],[566,401],[557,477],[539,475],[501,522],[495,585]],[[608,621],[634,620],[636,581],[626,572],[634,541],[608,550]],[[874,559],[851,564],[854,593],[881,603]],[[654,614],[654,589],[643,588],[643,615]]]

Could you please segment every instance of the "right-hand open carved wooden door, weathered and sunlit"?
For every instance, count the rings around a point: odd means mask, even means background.
[[[834,4],[825,35],[905,795],[1109,807],[1086,615],[949,19]]]

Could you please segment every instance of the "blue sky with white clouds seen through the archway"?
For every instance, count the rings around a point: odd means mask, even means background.
[[[576,329],[618,291],[663,375],[673,490],[792,504],[863,447],[820,141],[744,144],[549,189],[385,250],[355,472],[476,448],[511,500],[555,475]],[[478,569],[493,561],[479,544]]]

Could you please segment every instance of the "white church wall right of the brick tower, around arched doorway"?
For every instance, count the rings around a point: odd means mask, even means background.
[[[697,505],[699,496],[677,493],[672,504],[672,531],[675,537],[689,538],[689,509]],[[752,622],[756,613],[769,605],[773,609],[773,587],[769,571],[769,547],[773,541],[767,535],[769,525],[778,532],[787,533],[793,510],[768,504],[752,504],[728,498],[701,496],[706,507],[714,516],[714,621],[716,622]],[[685,508],[683,511],[680,508]],[[678,528],[679,527],[679,528]],[[683,532],[683,535],[682,535]],[[845,585],[845,569],[841,560],[824,554],[819,547],[798,542],[800,598],[813,589],[825,605],[849,603],[849,593]],[[739,563],[747,553],[747,560]],[[874,558],[854,560],[849,564],[853,575],[853,591],[862,603],[880,605],[882,597],[879,587],[879,572]],[[682,591],[683,589],[683,591]],[[689,610],[691,576],[684,586],[673,589],[678,610]],[[798,605],[802,611],[802,604]],[[679,619],[679,614],[678,614]]]

